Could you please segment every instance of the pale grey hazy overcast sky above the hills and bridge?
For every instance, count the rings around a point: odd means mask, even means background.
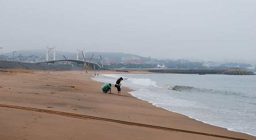
[[[0,0],[0,53],[256,60],[255,0]]]

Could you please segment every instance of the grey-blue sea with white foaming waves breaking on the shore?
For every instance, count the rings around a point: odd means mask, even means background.
[[[256,136],[256,76],[197,74],[103,74],[124,79],[131,95],[154,106],[228,130]]]

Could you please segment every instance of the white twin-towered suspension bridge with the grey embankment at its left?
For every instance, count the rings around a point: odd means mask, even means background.
[[[25,68],[35,70],[76,70],[79,67],[87,69],[99,70],[103,68],[103,65],[99,65],[96,62],[92,62],[93,55],[89,61],[86,61],[84,50],[77,50],[73,56],[64,56],[55,50],[55,47],[47,47],[47,50],[42,56],[40,56],[35,62],[16,62],[16,61],[4,61],[0,60],[0,68]],[[100,57],[101,59],[101,57]]]

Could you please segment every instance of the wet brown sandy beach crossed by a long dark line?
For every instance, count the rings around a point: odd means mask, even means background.
[[[256,140],[248,134],[212,126],[155,107],[131,96],[102,93],[104,83],[92,81],[94,71],[0,71],[0,104],[47,109],[162,126],[192,132]],[[122,73],[99,71],[102,73]],[[133,71],[131,73],[148,73]],[[113,81],[114,83],[115,81]],[[213,115],[213,114],[209,114]],[[72,118],[0,106],[0,140],[227,140],[226,138],[127,125],[105,120]]]

